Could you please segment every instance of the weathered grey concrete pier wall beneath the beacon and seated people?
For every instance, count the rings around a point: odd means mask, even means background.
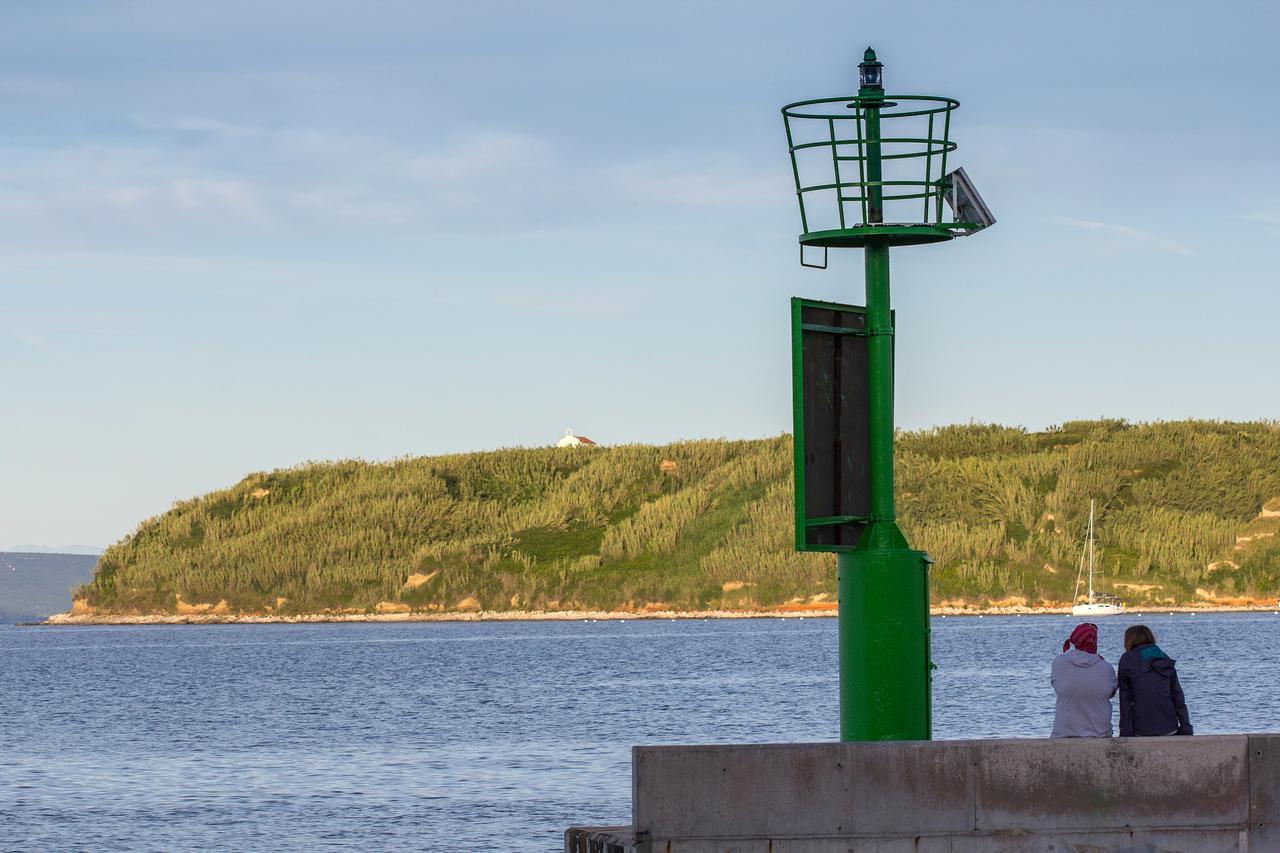
[[[1280,735],[636,747],[568,853],[1280,853]]]

